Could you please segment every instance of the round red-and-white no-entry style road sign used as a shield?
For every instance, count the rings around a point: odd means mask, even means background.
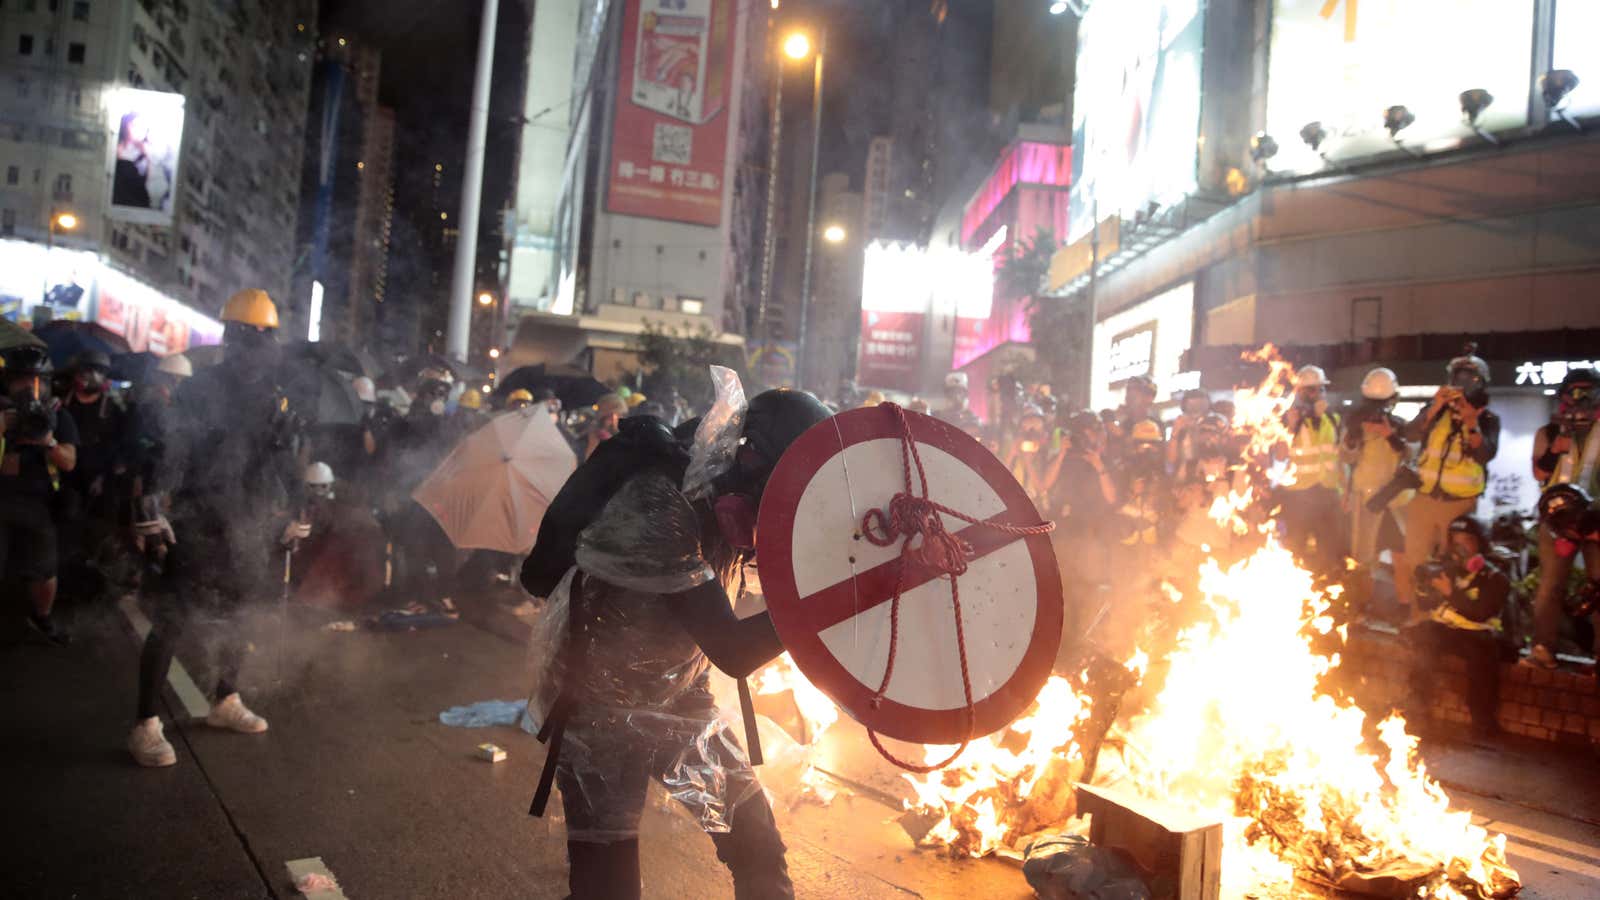
[[[930,416],[906,413],[906,423],[933,501],[989,522],[1040,522],[1027,492],[981,444]],[[901,538],[877,546],[861,533],[867,511],[906,490],[901,434],[891,408],[869,407],[816,424],[784,453],[757,520],[762,589],[795,665],[851,717],[891,738],[954,745],[1008,725],[1045,685],[1061,645],[1061,573],[1048,535],[942,516],[946,530],[973,546],[960,577],[968,735],[950,578],[902,562]],[[874,705],[901,565],[894,676]]]

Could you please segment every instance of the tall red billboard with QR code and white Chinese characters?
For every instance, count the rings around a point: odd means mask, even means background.
[[[722,224],[736,0],[627,0],[606,210]]]

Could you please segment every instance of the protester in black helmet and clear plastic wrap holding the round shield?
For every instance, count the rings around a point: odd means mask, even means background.
[[[573,897],[640,897],[638,823],[653,780],[710,834],[736,897],[794,895],[771,809],[718,717],[709,669],[744,677],[782,652],[766,613],[733,615],[728,586],[754,548],[766,477],[827,412],[795,391],[757,396],[742,428],[731,408],[718,399],[690,453],[661,421],[624,420],[562,488],[523,567],[528,591],[550,596],[534,641],[554,665],[530,714],[547,735],[565,722],[549,753]]]

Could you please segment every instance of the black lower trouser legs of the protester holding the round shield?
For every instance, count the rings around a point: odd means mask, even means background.
[[[792,900],[784,841],[766,794],[755,793],[733,812],[733,830],[710,834],[717,858],[733,874],[738,900]],[[638,900],[638,839],[611,844],[566,842],[571,900]]]

